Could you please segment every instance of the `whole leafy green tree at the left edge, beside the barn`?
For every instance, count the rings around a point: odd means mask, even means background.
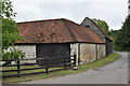
[[[17,40],[22,40],[23,38],[18,35],[18,27],[14,20],[16,13],[13,11],[13,5],[10,0],[1,1],[2,3],[2,12],[0,17],[2,18],[2,59],[15,59],[23,58],[24,53],[15,49],[14,43]],[[9,47],[10,52],[6,52]],[[10,63],[10,62],[9,62]],[[5,62],[5,64],[8,64]]]

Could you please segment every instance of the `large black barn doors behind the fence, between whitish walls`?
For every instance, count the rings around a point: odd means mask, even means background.
[[[55,58],[50,63],[51,66],[63,63],[62,60],[64,56],[70,56],[70,44],[69,43],[51,43],[51,44],[37,44],[37,58]],[[60,57],[60,58],[56,58]],[[70,59],[70,57],[66,57]],[[38,60],[39,66],[44,66],[46,60]],[[51,61],[51,60],[50,60]]]

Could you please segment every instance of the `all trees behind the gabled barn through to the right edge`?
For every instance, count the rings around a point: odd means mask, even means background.
[[[93,18],[93,22],[110,37],[115,51],[130,51],[130,15],[119,30],[109,30],[105,20]]]

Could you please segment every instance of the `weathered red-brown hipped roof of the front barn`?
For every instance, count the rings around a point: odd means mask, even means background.
[[[104,43],[91,29],[64,18],[17,23],[24,41],[17,43]]]

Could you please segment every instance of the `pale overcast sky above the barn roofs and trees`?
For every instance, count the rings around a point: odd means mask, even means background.
[[[15,20],[67,18],[81,24],[86,16],[105,20],[120,29],[128,14],[128,0],[12,0]]]

